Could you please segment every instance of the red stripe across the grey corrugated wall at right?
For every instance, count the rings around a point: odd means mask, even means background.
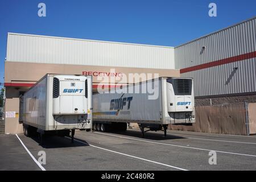
[[[218,65],[229,64],[229,63],[233,63],[233,62],[237,62],[237,61],[251,59],[251,58],[254,58],[254,57],[256,57],[256,51],[245,53],[243,55],[238,55],[238,56],[234,56],[234,57],[228,57],[226,59],[212,61],[210,63],[196,65],[194,67],[183,68],[183,69],[180,69],[180,73],[187,73],[187,72],[197,71],[197,70],[200,70],[200,69],[205,69],[205,68],[210,68],[210,67],[217,67]]]

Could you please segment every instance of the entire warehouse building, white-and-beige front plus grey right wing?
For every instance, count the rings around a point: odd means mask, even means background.
[[[9,33],[5,133],[22,133],[19,96],[46,73],[92,75],[94,91],[99,76],[109,88],[129,84],[117,81],[129,73],[193,77],[197,106],[256,102],[255,25],[252,18],[176,48]]]

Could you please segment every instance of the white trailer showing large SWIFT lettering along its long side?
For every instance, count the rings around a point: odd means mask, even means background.
[[[150,88],[154,88],[154,93]],[[192,78],[160,77],[116,89],[114,93],[93,94],[93,130],[96,131],[113,128],[126,131],[126,123],[138,123],[143,137],[144,128],[163,130],[166,136],[169,124],[195,122]]]

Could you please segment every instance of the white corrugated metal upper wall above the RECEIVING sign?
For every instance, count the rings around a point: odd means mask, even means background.
[[[8,34],[7,61],[174,69],[174,48]]]

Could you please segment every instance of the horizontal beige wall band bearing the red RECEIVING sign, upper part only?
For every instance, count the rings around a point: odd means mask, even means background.
[[[179,77],[179,69],[146,69],[146,68],[122,68],[122,67],[98,67],[68,64],[40,64],[40,63],[20,63],[5,62],[5,82],[35,82],[42,78],[46,73],[76,74],[82,75],[83,72],[110,72],[115,69],[117,73],[158,73],[160,77],[172,76]],[[97,77],[93,77],[93,82],[98,82]]]

